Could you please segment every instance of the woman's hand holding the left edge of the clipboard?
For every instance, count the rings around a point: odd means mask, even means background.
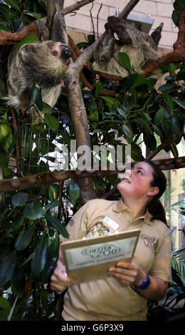
[[[58,293],[63,292],[68,285],[75,284],[75,280],[68,277],[66,274],[65,265],[63,264],[63,255],[59,249],[58,261],[56,263],[56,269],[51,276],[51,289]]]

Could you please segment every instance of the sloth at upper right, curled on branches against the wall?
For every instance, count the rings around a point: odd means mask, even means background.
[[[132,69],[137,73],[141,73],[144,66],[159,57],[151,36],[138,31],[125,20],[115,16],[109,16],[107,21],[105,33],[102,34],[95,48],[93,71],[125,78],[129,75],[129,71],[120,63],[118,52],[127,53]],[[117,33],[119,40],[115,39],[114,33]],[[160,70],[149,73],[149,77],[157,79],[161,75]]]

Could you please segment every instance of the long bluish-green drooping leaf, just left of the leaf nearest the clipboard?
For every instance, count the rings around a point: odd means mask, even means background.
[[[33,257],[31,259],[31,269],[37,277],[39,277],[46,264],[47,249],[48,237],[46,232],[44,232],[39,240],[38,248],[33,253]]]

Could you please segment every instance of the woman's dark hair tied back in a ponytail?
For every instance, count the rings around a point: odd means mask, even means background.
[[[149,213],[153,215],[152,220],[161,220],[167,226],[166,212],[164,210],[162,202],[160,202],[159,200],[159,197],[161,197],[164,191],[166,190],[166,177],[162,172],[162,170],[160,170],[155,163],[151,161],[146,163],[148,163],[153,170],[152,175],[154,179],[151,182],[151,186],[159,187],[159,193],[157,193],[157,195],[154,195],[154,198],[152,199],[151,202],[149,202],[147,209]]]

